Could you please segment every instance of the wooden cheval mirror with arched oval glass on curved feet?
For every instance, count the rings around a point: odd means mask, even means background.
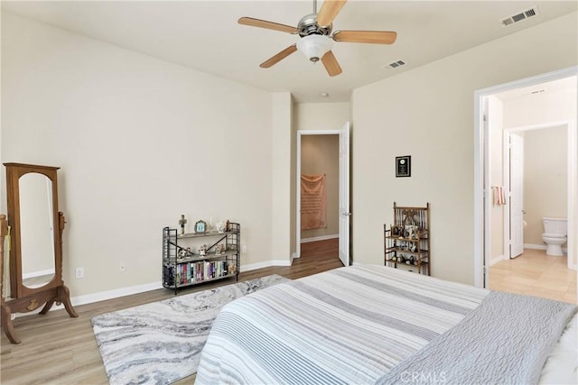
[[[71,317],[79,316],[62,280],[64,215],[58,211],[58,167],[5,163],[8,221],[0,217],[2,261],[2,328],[12,344],[20,344],[12,324],[13,313],[27,313],[44,305],[46,314],[56,302]],[[7,237],[5,234],[7,233]],[[8,240],[10,295],[4,284],[4,241]]]

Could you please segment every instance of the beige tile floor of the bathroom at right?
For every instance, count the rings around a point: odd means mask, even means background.
[[[576,270],[569,270],[566,261],[565,256],[526,249],[519,257],[489,268],[489,289],[578,303]]]

